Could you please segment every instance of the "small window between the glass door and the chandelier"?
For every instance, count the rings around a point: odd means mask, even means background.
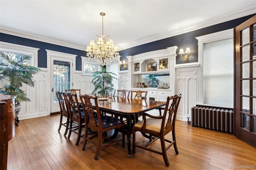
[[[95,71],[98,71],[98,64],[88,60],[88,57],[82,57],[82,73],[84,75],[92,75]]]

